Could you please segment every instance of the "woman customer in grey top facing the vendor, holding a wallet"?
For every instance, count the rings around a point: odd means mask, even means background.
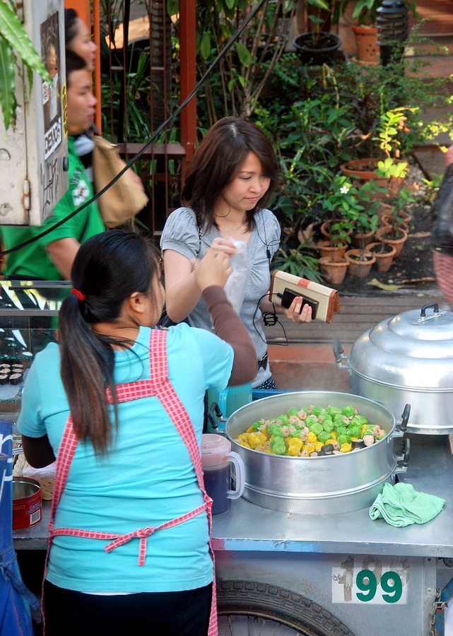
[[[273,254],[280,226],[266,204],[278,183],[278,163],[264,133],[245,119],[224,117],[208,131],[187,170],[184,207],[170,214],[160,247],[165,266],[167,314],[175,322],[211,329],[206,303],[196,287],[192,262],[206,248],[231,256],[233,240],[247,245],[249,278],[240,318],[255,346],[259,372],[253,387],[274,389],[261,311],[285,312],[293,322],[308,322],[312,310],[300,311],[302,299],[288,310],[269,302]]]

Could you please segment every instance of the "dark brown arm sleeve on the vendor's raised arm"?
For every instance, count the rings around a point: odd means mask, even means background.
[[[202,294],[211,314],[216,336],[233,347],[235,359],[230,386],[252,382],[258,372],[257,352],[242,320],[228,302],[221,287],[208,287]]]

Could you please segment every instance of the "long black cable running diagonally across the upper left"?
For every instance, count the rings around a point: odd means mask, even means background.
[[[85,201],[84,204],[82,204],[79,208],[77,208],[76,210],[74,210],[73,212],[71,212],[70,214],[68,214],[68,216],[66,216],[65,218],[61,219],[58,223],[55,223],[55,225],[52,225],[51,228],[47,228],[47,230],[44,230],[43,232],[41,232],[40,234],[37,234],[36,236],[34,236],[33,238],[29,239],[28,241],[25,241],[23,243],[20,243],[20,245],[16,245],[16,247],[11,247],[10,249],[5,249],[4,252],[0,252],[0,257],[4,256],[5,254],[11,254],[11,252],[17,252],[18,249],[22,249],[23,247],[26,247],[27,245],[30,245],[30,243],[35,242],[36,240],[42,238],[43,236],[45,236],[46,234],[49,234],[49,232],[52,232],[53,230],[55,230],[56,228],[59,228],[60,225],[63,225],[63,223],[66,223],[67,220],[69,220],[70,218],[72,218],[73,216],[76,216],[76,214],[78,214],[79,212],[81,212],[83,209],[85,209],[87,206],[89,206],[90,204],[93,203],[93,201],[96,201],[96,199],[99,199],[100,196],[102,196],[102,194],[104,194],[105,192],[107,192],[107,190],[112,187],[112,185],[114,183],[117,182],[117,180],[122,177],[122,175],[124,175],[124,172],[126,172],[126,170],[129,170],[129,168],[134,165],[134,163],[139,160],[139,158],[141,158],[141,155],[143,155],[143,153],[149,148],[149,146],[151,146],[151,143],[153,143],[153,141],[158,137],[158,135],[160,135],[160,133],[167,127],[170,126],[170,124],[172,124],[176,117],[180,114],[180,112],[182,111],[182,109],[187,106],[187,104],[189,103],[190,100],[192,100],[192,98],[194,97],[194,95],[196,95],[196,93],[198,93],[199,89],[201,88],[201,86],[203,86],[204,82],[206,81],[206,79],[208,78],[209,75],[211,75],[212,71],[215,69],[216,65],[218,64],[218,62],[220,61],[220,59],[223,58],[223,56],[228,53],[228,51],[230,50],[231,47],[233,47],[233,44],[235,43],[235,41],[237,40],[237,38],[241,35],[242,31],[245,29],[245,27],[248,25],[248,23],[250,22],[250,20],[252,20],[252,18],[254,18],[254,16],[256,15],[256,13],[260,10],[261,6],[263,6],[263,4],[266,2],[267,0],[261,0],[259,2],[259,4],[257,4],[257,6],[253,9],[253,11],[250,13],[250,15],[248,16],[247,20],[245,20],[244,23],[242,23],[242,25],[240,26],[240,28],[236,31],[236,33],[234,35],[232,35],[230,41],[225,45],[225,47],[222,49],[222,51],[220,51],[220,53],[218,54],[218,56],[216,57],[216,59],[213,61],[213,63],[211,64],[211,66],[209,66],[209,68],[207,69],[206,73],[204,73],[204,76],[201,78],[201,80],[199,81],[199,83],[195,86],[195,88],[192,90],[192,93],[190,93],[189,95],[187,95],[187,98],[185,98],[185,100],[177,107],[177,109],[175,110],[175,112],[170,115],[170,117],[168,117],[168,119],[163,122],[163,124],[160,124],[160,126],[158,126],[158,128],[155,130],[155,132],[151,135],[150,139],[148,139],[148,141],[146,142],[146,144],[143,146],[143,148],[141,148],[141,150],[136,153],[136,155],[134,155],[134,157],[131,158],[131,160],[129,161],[129,163],[127,163],[127,165],[124,166],[124,168],[118,172],[117,176],[114,177],[114,179],[112,179],[112,181],[110,183],[107,183],[107,185],[105,187],[102,188],[102,190],[100,190],[97,194],[95,194],[94,196],[91,197],[91,199],[88,199],[88,201]]]

